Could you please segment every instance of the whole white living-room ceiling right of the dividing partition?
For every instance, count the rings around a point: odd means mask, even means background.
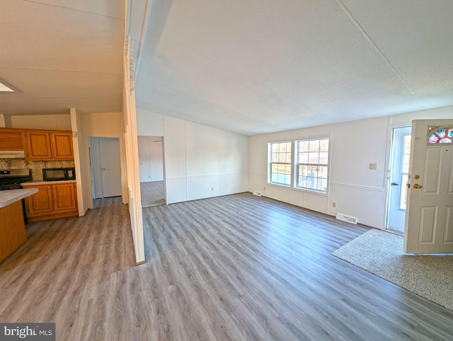
[[[154,0],[137,107],[252,135],[453,104],[451,0]]]

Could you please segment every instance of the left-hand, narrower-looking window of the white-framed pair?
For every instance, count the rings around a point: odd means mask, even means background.
[[[269,144],[269,183],[291,185],[291,141]]]

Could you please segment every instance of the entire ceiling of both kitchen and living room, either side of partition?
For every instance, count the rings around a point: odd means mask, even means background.
[[[122,110],[125,1],[0,0],[0,114]],[[129,1],[137,108],[252,135],[453,105],[451,0]]]

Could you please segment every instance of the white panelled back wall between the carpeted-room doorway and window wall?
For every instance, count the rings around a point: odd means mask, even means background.
[[[164,137],[168,204],[248,189],[247,137],[139,109],[137,129]]]

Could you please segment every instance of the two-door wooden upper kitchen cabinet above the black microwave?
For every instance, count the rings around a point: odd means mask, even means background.
[[[72,160],[72,132],[25,130],[28,160]]]

